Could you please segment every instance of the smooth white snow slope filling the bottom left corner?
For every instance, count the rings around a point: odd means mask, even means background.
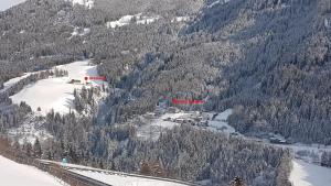
[[[0,156],[0,184],[3,186],[65,186],[52,175],[35,167]]]

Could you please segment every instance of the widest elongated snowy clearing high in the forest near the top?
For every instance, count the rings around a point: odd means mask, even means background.
[[[136,14],[136,15],[125,15],[121,17],[119,20],[117,21],[110,21],[106,23],[106,26],[108,29],[115,29],[115,28],[120,28],[124,25],[128,25],[130,23],[136,23],[136,24],[150,24],[152,22],[156,22],[157,20],[159,20],[160,17],[142,17],[141,13]]]

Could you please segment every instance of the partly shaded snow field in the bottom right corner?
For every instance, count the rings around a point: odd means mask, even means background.
[[[289,180],[293,186],[330,186],[331,168],[293,160]]]

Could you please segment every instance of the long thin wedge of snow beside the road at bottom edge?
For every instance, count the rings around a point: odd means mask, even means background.
[[[78,169],[72,169],[72,172],[114,186],[184,186],[183,184],[177,184],[166,180],[157,180],[119,174],[103,174]]]

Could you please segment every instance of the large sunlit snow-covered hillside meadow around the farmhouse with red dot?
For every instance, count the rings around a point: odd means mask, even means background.
[[[88,65],[89,61],[74,62],[61,65],[56,68],[68,72],[68,77],[42,79],[25,86],[20,92],[11,96],[13,103],[25,101],[32,110],[41,108],[41,112],[46,114],[51,109],[62,114],[74,109],[74,89],[82,89],[83,84],[68,84],[71,79],[78,79],[84,83],[86,76],[97,76],[96,66]],[[103,81],[92,80],[93,86],[100,86]]]

